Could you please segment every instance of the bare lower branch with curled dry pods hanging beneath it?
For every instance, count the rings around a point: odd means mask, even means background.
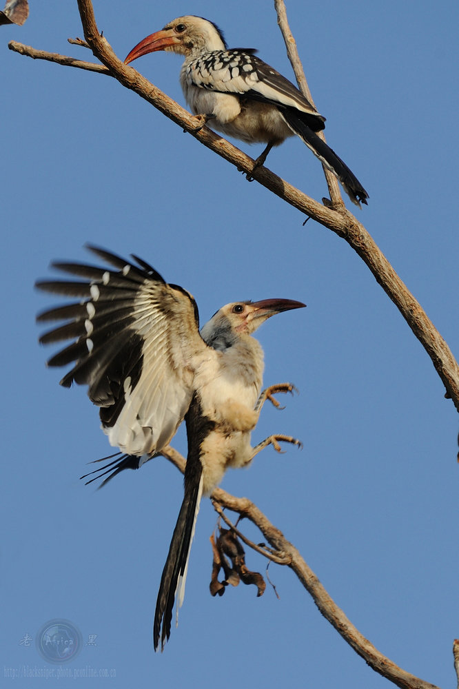
[[[182,473],[185,471],[185,459],[174,448],[167,446],[161,454],[170,460]],[[389,679],[396,686],[402,687],[402,689],[436,689],[435,685],[399,668],[360,634],[358,629],[343,613],[343,610],[336,605],[332,597],[327,593],[327,590],[320,584],[318,577],[306,564],[295,546],[287,541],[283,533],[269,521],[266,515],[253,502],[247,500],[246,497],[230,495],[230,493],[223,491],[221,488],[214,489],[210,497],[212,501],[218,502],[222,507],[238,513],[260,529],[267,542],[278,555],[278,564],[286,564],[294,570],[300,582],[309,595],[312,596],[320,613],[373,670]],[[225,519],[225,522],[230,525],[229,520]],[[237,533],[241,537],[241,533],[239,531]],[[252,547],[248,539],[244,539],[244,542]],[[258,546],[255,550],[260,552]],[[267,557],[265,553],[262,554]]]

